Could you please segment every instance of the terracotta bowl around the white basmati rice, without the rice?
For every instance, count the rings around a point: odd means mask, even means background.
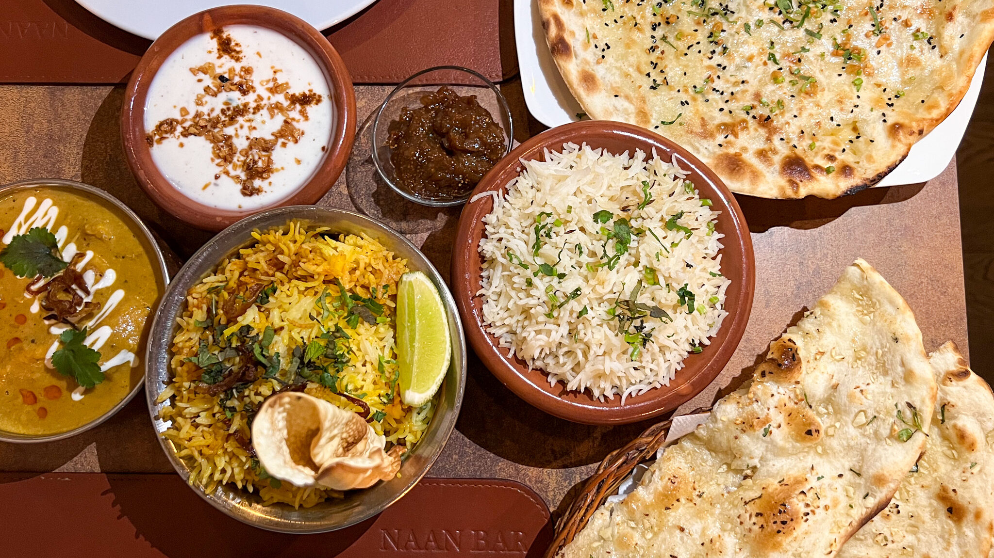
[[[684,367],[668,386],[657,387],[628,397],[598,401],[588,391],[568,391],[562,382],[550,384],[542,370],[529,369],[521,359],[508,356],[500,349],[496,337],[485,330],[483,299],[480,290],[483,258],[478,247],[483,235],[483,217],[493,209],[493,197],[479,196],[495,191],[503,193],[508,183],[518,176],[520,160],[543,160],[543,151],[561,151],[563,144],[586,143],[593,148],[606,148],[610,153],[641,149],[651,155],[655,149],[660,157],[674,157],[687,171],[702,198],[711,199],[715,210],[721,211],[716,230],[725,235],[721,250],[722,272],[732,280],[726,292],[725,308],[729,316],[718,334],[710,339],[700,353],[690,354]],[[584,120],[543,132],[519,145],[510,155],[497,163],[483,177],[470,202],[462,209],[455,235],[452,257],[452,292],[470,345],[497,378],[519,397],[533,406],[560,418],[585,424],[626,424],[656,417],[675,410],[707,387],[728,363],[739,346],[752,308],[755,290],[755,261],[752,240],[745,216],[735,197],[718,175],[697,157],[672,141],[631,124],[606,120]]]

